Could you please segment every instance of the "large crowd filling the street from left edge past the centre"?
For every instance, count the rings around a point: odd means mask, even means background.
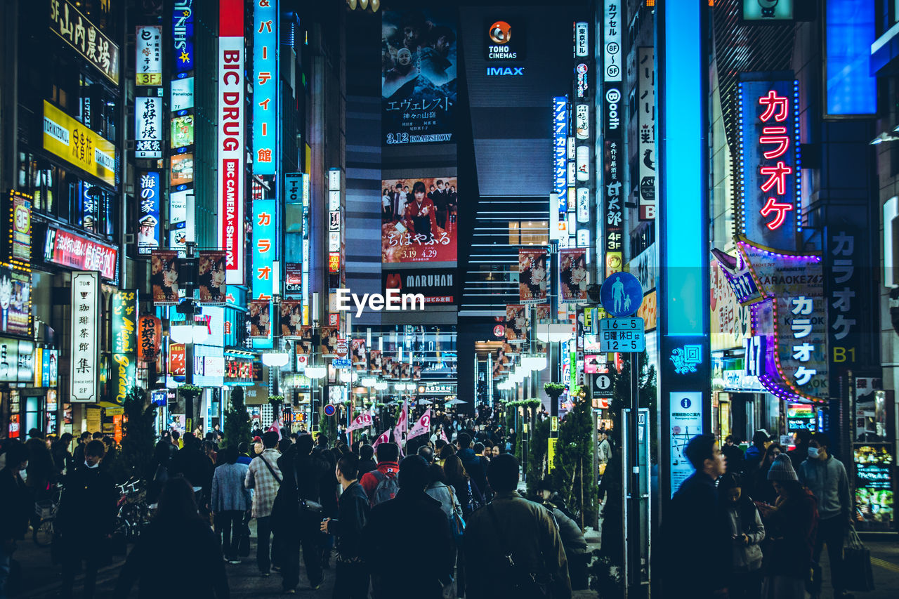
[[[51,552],[62,595],[72,596],[84,572],[82,596],[91,597],[98,569],[111,561],[120,492],[104,461],[115,443],[87,433],[50,443],[32,433],[0,454],[0,596],[15,541],[36,524],[35,501],[59,482]],[[228,568],[247,561],[261,577],[280,577],[286,594],[301,578],[319,588],[326,568],[334,568],[335,597],[527,597],[547,588],[565,597],[573,583],[587,586],[583,532],[548,482],[536,502],[518,492],[515,433],[492,413],[440,415],[431,433],[405,443],[353,439],[343,427],[334,441],[275,427],[252,435],[225,446],[218,430],[158,438],[147,468],[155,513],[115,596],[134,586],[141,597],[165,595],[170,582],[155,559],[164,554],[184,573],[185,596],[227,597]],[[409,524],[429,550],[411,552],[397,571],[397,534]],[[191,543],[173,546],[174,532]]]

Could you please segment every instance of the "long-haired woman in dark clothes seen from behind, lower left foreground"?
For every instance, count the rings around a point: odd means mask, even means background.
[[[172,542],[174,532],[181,541]],[[116,583],[116,597],[127,597],[138,583],[142,599],[172,595],[172,579],[160,576],[160,559],[177,564],[182,597],[227,599],[225,561],[215,534],[197,512],[191,483],[170,478],[159,496],[156,516],[140,533]]]

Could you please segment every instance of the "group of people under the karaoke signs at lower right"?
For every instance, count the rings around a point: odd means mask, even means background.
[[[816,596],[827,546],[833,596],[847,599],[843,543],[852,527],[849,478],[823,433],[800,431],[785,451],[757,431],[744,452],[732,437],[690,440],[696,472],[664,518],[665,586],[684,596]]]

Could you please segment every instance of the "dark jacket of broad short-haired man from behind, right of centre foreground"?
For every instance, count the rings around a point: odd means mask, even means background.
[[[515,581],[503,564],[503,556],[510,550],[518,571],[548,575],[552,577],[550,596],[570,597],[568,559],[549,510],[515,491],[498,493],[490,505],[494,506],[501,531],[497,530],[488,506],[471,514],[465,529],[468,599],[511,596]]]

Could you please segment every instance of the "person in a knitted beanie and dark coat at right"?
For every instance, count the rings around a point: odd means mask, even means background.
[[[765,524],[765,571],[761,596],[797,599],[806,596],[818,528],[817,502],[802,486],[790,459],[780,454],[768,470],[778,499],[775,505],[757,504]]]

